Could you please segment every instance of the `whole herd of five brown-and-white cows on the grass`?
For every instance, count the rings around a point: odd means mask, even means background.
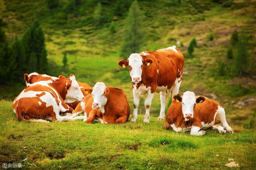
[[[150,121],[150,106],[154,92],[160,93],[161,109],[158,120],[164,120],[164,129],[176,132],[190,131],[191,135],[204,135],[205,129],[219,133],[233,133],[226,121],[221,104],[194,92],[178,94],[182,81],[184,57],[175,46],[157,51],[133,53],[118,65],[129,68],[133,92],[131,121],[138,116],[140,98],[147,94],[144,123]],[[125,123],[130,116],[126,94],[120,88],[97,82],[94,87],[77,82],[73,74],[58,78],[46,74],[24,74],[27,87],[15,98],[12,108],[18,120],[28,122],[73,121],[86,123]],[[167,91],[172,103],[165,116]],[[79,115],[83,113],[84,115]],[[216,126],[221,123],[222,126]]]

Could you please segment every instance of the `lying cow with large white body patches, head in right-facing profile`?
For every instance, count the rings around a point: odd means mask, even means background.
[[[69,78],[29,84],[14,99],[12,109],[20,121],[48,122],[44,120],[48,116],[53,121],[60,121],[64,118],[60,112],[73,111],[65,102],[81,101],[83,98],[75,76],[70,74]]]

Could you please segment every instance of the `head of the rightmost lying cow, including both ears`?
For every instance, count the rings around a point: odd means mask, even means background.
[[[186,121],[194,117],[194,108],[196,104],[204,102],[205,98],[200,96],[196,98],[194,92],[186,91],[183,96],[180,94],[173,96],[176,102],[182,103],[182,114]]]

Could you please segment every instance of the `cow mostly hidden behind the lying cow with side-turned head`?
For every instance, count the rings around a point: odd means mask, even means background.
[[[30,84],[33,84],[35,82],[39,81],[46,81],[46,80],[56,80],[58,78],[66,78],[65,76],[60,75],[59,77],[49,76],[47,74],[38,74],[37,72],[32,72],[30,74],[24,74],[24,80],[26,82],[26,85],[29,86]],[[82,91],[84,96],[88,95],[88,90],[92,89],[87,83],[81,83],[78,82],[79,88]],[[88,90],[84,90],[84,89]],[[79,104],[80,101],[75,101],[72,103],[66,103],[68,106],[72,107],[73,109],[76,108],[76,106]]]

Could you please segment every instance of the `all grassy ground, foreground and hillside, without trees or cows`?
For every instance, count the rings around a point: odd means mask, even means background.
[[[92,24],[94,1],[67,12],[68,0],[61,0],[57,9],[50,10],[44,1],[0,0],[0,17],[5,18],[8,41],[38,19],[42,26],[52,76],[73,73],[80,82],[90,86],[98,81],[122,88],[132,106],[133,97],[129,72],[117,62],[123,41],[125,15],[115,21],[116,33],[109,30],[114,2],[104,1],[103,25]],[[178,1],[177,1],[178,2]],[[226,110],[227,121],[234,134],[220,135],[208,130],[203,137],[175,133],[162,129],[157,121],[160,112],[159,94],[150,108],[150,123],[142,123],[144,99],[140,100],[138,121],[123,125],[85,124],[82,121],[61,123],[18,122],[11,109],[12,100],[26,84],[0,84],[0,160],[22,162],[23,168],[47,169],[225,169],[228,158],[238,162],[241,169],[254,169],[256,111],[256,22],[255,0],[235,0],[229,7],[211,0],[138,1],[144,14],[146,43],[142,51],[153,51],[175,45],[185,57],[180,93],[187,90],[219,101]],[[128,11],[128,9],[127,9]],[[250,64],[243,76],[231,74],[226,58],[230,36],[234,29],[244,30],[248,41]],[[214,38],[209,39],[210,36]],[[193,56],[187,48],[193,38],[197,47]],[[68,66],[62,67],[63,53],[68,52]],[[219,73],[218,61],[225,63]],[[169,98],[168,98],[169,100]],[[249,102],[248,102],[249,101]],[[170,102],[169,102],[170,104]],[[166,106],[168,108],[168,106]],[[216,156],[218,155],[218,156]]]

